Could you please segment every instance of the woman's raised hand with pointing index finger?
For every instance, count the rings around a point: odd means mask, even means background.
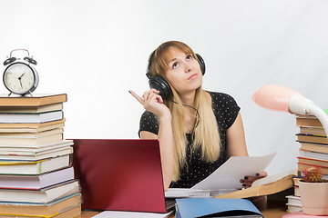
[[[163,99],[159,95],[158,90],[150,89],[149,91],[146,91],[142,97],[131,90],[128,92],[132,94],[147,111],[157,115],[159,119],[170,115],[169,108],[163,104]]]

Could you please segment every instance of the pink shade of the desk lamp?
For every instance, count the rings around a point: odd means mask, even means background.
[[[252,99],[266,109],[290,112],[289,102],[296,94],[299,93],[280,85],[265,85],[253,94]]]

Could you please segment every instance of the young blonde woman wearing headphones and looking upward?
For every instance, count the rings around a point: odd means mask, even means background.
[[[204,73],[190,46],[169,41],[150,55],[148,69],[149,79],[159,77],[160,85],[164,80],[169,94],[151,88],[140,97],[129,91],[146,109],[139,137],[159,140],[165,190],[190,188],[229,157],[248,155],[240,107],[229,94],[203,90]],[[245,176],[241,183],[249,187],[263,176]]]

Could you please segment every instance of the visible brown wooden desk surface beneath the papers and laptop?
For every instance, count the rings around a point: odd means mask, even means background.
[[[268,200],[266,196],[253,199],[252,203],[261,211],[265,218],[279,218],[286,213],[286,205],[282,201]],[[76,218],[90,218],[97,215],[98,212],[82,211],[82,214]],[[174,215],[169,216],[174,218]]]

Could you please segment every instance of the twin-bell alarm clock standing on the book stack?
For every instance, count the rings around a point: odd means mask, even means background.
[[[28,55],[23,59],[16,58],[12,56],[16,51],[26,51]],[[36,90],[39,77],[31,64],[36,65],[36,60],[29,56],[26,49],[15,49],[10,52],[10,56],[4,62],[6,68],[3,76],[5,88],[10,94],[32,95],[32,92]]]

